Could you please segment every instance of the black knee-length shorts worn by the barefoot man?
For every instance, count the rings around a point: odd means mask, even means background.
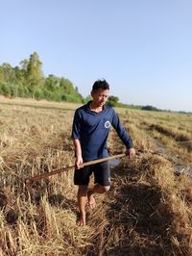
[[[95,183],[98,183],[101,186],[110,185],[110,169],[108,162],[75,169],[74,184],[88,185],[89,178],[92,173],[94,174]]]

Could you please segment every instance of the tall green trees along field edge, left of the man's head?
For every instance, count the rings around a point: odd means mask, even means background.
[[[53,74],[45,77],[41,68],[42,63],[36,52],[18,66],[12,67],[8,63],[0,65],[0,94],[8,97],[84,102],[84,97],[69,79]]]

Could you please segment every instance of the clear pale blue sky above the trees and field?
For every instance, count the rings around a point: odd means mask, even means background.
[[[84,97],[192,112],[191,0],[0,0],[0,64],[34,52]]]

